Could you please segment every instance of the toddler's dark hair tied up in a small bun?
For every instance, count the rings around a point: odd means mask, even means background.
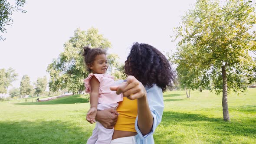
[[[82,56],[84,57],[85,67],[89,72],[92,72],[92,70],[89,69],[89,65],[92,65],[96,56],[101,54],[107,55],[107,52],[104,49],[100,49],[100,48],[91,49],[89,46],[85,46],[83,47],[83,49],[84,49],[84,52]]]

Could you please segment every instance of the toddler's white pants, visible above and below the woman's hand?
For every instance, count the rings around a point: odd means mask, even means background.
[[[117,108],[118,103],[98,104],[98,110],[104,110],[108,108]],[[110,144],[112,140],[113,129],[104,128],[99,122],[96,123],[95,128],[92,131],[92,136],[87,140],[86,144]]]

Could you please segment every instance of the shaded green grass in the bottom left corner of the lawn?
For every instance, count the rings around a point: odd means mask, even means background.
[[[3,144],[85,144],[92,131],[61,121],[0,121],[0,128]]]

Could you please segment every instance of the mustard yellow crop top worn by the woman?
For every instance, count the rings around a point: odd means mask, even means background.
[[[132,101],[124,97],[123,101],[119,102],[117,111],[119,115],[114,130],[136,132],[135,119],[138,115],[137,99]]]

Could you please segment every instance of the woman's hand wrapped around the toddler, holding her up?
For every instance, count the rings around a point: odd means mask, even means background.
[[[97,112],[96,120],[103,125],[103,127],[112,129],[118,118],[118,112],[112,108],[101,110]]]

